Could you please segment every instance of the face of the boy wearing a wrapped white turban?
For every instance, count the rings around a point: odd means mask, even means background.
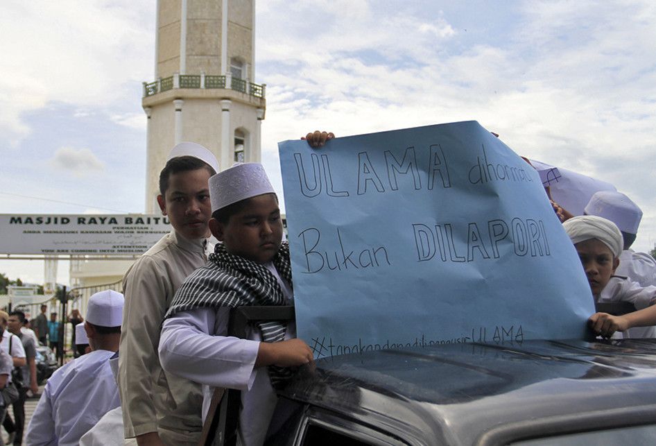
[[[619,259],[615,259],[610,248],[598,239],[581,241],[574,246],[592,294],[599,295],[619,265]]]

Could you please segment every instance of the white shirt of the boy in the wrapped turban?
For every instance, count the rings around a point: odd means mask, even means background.
[[[616,275],[601,291],[597,302],[630,302],[636,309],[643,309],[656,302],[656,286],[640,286],[625,277]],[[654,338],[656,327],[633,327],[622,333],[623,338]]]

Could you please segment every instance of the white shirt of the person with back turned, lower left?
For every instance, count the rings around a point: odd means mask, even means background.
[[[53,373],[27,428],[28,445],[78,445],[107,411],[121,404],[108,361],[113,354],[96,350]]]

